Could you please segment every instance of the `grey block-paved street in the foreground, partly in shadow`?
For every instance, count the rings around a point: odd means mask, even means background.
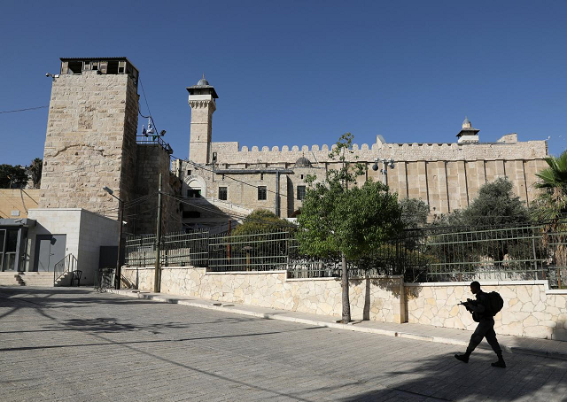
[[[89,288],[0,287],[0,400],[567,400],[567,361]]]

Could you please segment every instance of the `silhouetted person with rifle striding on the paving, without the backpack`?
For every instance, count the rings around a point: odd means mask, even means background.
[[[475,329],[472,336],[470,336],[467,351],[464,354],[455,354],[454,357],[457,360],[461,360],[463,363],[468,363],[470,353],[475,350],[482,341],[482,338],[485,337],[488,344],[492,346],[496,356],[498,356],[498,361],[491,365],[493,367],[506,368],[506,363],[502,358],[502,350],[496,339],[496,333],[494,332],[494,317],[490,311],[488,294],[480,289],[480,283],[477,281],[470,283],[470,292],[477,297],[477,300],[468,298],[463,305],[472,313],[472,318],[474,321],[478,322],[478,327]]]

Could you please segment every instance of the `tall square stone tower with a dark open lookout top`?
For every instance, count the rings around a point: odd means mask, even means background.
[[[116,216],[135,193],[138,70],[128,58],[61,58],[53,76],[40,208]]]

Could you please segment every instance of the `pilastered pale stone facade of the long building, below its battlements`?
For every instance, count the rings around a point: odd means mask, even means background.
[[[475,145],[471,145],[475,146]],[[486,183],[493,182],[499,177],[508,177],[513,183],[514,192],[526,205],[530,205],[537,197],[537,190],[533,183],[537,182],[536,173],[544,169],[547,164],[543,158],[532,160],[432,160],[432,161],[396,161],[393,167],[387,167],[387,174],[380,170],[372,170],[374,162],[363,162],[366,165],[366,174],[358,179],[362,184],[366,180],[386,182],[399,198],[419,198],[430,205],[431,216],[448,213],[456,209],[466,208],[477,197],[478,190]],[[287,168],[292,174],[282,174],[280,177],[280,205],[283,218],[291,216],[298,210],[301,201],[297,199],[297,187],[305,185],[307,174],[315,174],[323,180],[329,169],[338,169],[337,163],[313,163],[311,167],[295,167],[294,163],[277,164],[251,164],[234,167],[223,164],[223,169],[238,169],[235,173],[213,174],[213,166],[196,169],[184,163],[183,170],[192,169],[193,175],[200,176],[206,184],[207,197],[218,197],[219,187],[228,188],[228,201],[246,208],[268,209],[275,211],[276,175],[258,173],[245,173],[242,169],[259,168]],[[379,166],[382,169],[382,166]],[[283,183],[287,181],[285,186]],[[266,186],[268,199],[259,201],[256,187]]]

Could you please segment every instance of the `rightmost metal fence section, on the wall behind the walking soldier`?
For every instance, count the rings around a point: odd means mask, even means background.
[[[561,287],[566,235],[542,225],[421,229],[397,240],[396,259],[408,282],[548,279]]]

